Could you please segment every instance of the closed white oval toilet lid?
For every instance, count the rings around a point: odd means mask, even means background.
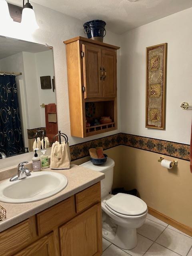
[[[118,193],[105,202],[106,206],[123,215],[141,215],[147,210],[146,203],[136,196]]]

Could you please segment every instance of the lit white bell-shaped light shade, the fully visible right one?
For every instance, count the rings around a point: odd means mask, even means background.
[[[21,26],[28,30],[36,30],[39,28],[36,22],[35,12],[32,8],[23,8]]]

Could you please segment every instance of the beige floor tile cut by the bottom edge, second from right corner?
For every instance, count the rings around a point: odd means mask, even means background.
[[[144,256],[178,256],[176,252],[172,252],[169,249],[154,243]]]

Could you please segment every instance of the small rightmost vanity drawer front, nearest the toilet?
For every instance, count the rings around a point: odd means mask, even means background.
[[[98,182],[93,186],[75,194],[76,212],[81,212],[82,210],[100,201],[101,187],[100,182]]]

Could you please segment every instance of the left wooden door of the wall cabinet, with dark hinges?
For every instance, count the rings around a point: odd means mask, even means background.
[[[101,48],[82,44],[84,98],[102,98]]]

